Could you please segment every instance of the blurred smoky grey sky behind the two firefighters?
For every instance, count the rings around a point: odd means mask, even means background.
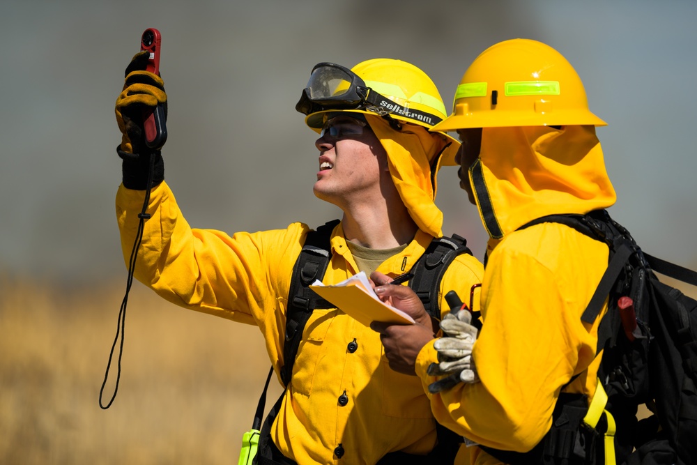
[[[548,43],[581,75],[644,250],[696,266],[694,1],[18,1],[0,15],[0,273],[125,281],[114,213],[114,101],[148,27],[162,32],[165,177],[194,227],[256,231],[338,218],[312,195],[314,132],[294,110],[320,61],[425,70],[450,107],[464,70],[510,38]],[[486,237],[441,171],[445,232]]]

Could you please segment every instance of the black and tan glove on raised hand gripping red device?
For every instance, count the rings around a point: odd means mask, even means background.
[[[143,116],[146,109],[161,105],[167,121],[167,93],[162,78],[146,71],[148,52],[133,56],[125,70],[123,91],[116,99],[116,123],[121,130],[121,144],[116,153],[123,159],[123,185],[129,189],[145,190],[164,180],[164,162],[160,150],[145,143]],[[151,155],[155,157],[153,181],[148,186]]]

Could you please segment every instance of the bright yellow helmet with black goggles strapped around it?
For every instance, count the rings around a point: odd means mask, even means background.
[[[441,94],[426,73],[387,58],[362,61],[351,70],[335,63],[317,64],[296,109],[317,132],[328,112],[389,114],[429,130],[447,116]]]

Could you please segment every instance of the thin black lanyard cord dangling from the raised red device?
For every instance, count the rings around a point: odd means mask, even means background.
[[[102,382],[102,388],[99,390],[99,406],[106,410],[112,405],[114,399],[116,399],[116,392],[118,392],[118,381],[121,379],[121,356],[123,356],[123,337],[125,336],[125,323],[126,323],[126,306],[128,305],[128,293],[133,284],[133,274],[135,273],[135,264],[138,257],[138,249],[140,248],[141,242],[143,242],[143,231],[145,229],[145,220],[150,218],[150,215],[146,213],[148,211],[148,205],[150,204],[150,191],[153,184],[153,176],[155,172],[155,153],[150,154],[150,164],[148,166],[148,184],[145,191],[145,199],[143,201],[143,208],[138,214],[138,230],[135,235],[135,243],[133,243],[133,250],[131,250],[130,259],[128,260],[128,279],[126,280],[126,291],[121,301],[121,308],[118,310],[118,321],[116,323],[116,337],[114,337],[114,343],[112,344],[112,350],[109,351],[109,361],[107,362],[107,370],[104,374],[104,381]],[[118,369],[116,371],[116,386],[114,386],[114,394],[109,400],[109,403],[105,406],[102,404],[102,394],[104,392],[104,387],[107,385],[107,379],[109,378],[109,369],[112,367],[112,358],[114,356],[114,348],[116,348],[116,342],[118,342],[118,336],[121,335],[121,344],[118,346]]]

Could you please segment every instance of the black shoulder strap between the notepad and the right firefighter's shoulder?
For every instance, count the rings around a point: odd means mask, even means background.
[[[431,317],[441,319],[438,305],[441,279],[447,267],[460,254],[472,254],[465,238],[457,234],[434,238],[412,268],[414,277],[409,281],[409,287],[419,296]]]

